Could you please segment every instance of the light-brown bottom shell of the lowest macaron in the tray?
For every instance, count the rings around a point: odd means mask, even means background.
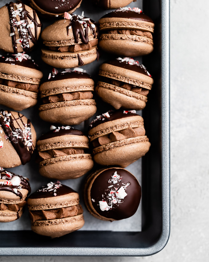
[[[63,219],[41,220],[32,224],[31,229],[39,235],[60,237],[84,226],[83,214]]]

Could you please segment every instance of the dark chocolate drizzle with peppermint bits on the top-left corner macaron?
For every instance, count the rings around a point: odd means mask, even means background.
[[[17,7],[16,10],[14,10],[14,6]],[[37,28],[41,27],[41,23],[39,24],[37,22],[35,10],[33,10],[34,18],[32,18],[29,12],[26,10],[26,7],[22,3],[22,1],[18,1],[17,3],[10,2],[9,4],[6,4],[6,7],[8,8],[8,12],[10,16],[10,29],[11,29],[11,34],[13,34],[11,37],[12,37],[12,45],[13,45],[14,53],[18,52],[17,43],[21,43],[21,47],[24,51],[29,51],[30,50],[29,42],[31,40],[32,43],[34,44],[37,43]],[[18,21],[17,16],[20,18],[20,21]],[[35,36],[31,32],[30,24],[28,23],[27,18],[34,23]],[[15,29],[15,27],[17,28],[17,30]],[[20,39],[16,39],[15,32],[16,33],[18,32]]]

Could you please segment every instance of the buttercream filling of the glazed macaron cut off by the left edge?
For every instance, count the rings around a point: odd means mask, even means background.
[[[18,89],[23,89],[23,90],[30,91],[30,92],[35,92],[35,93],[38,92],[38,87],[39,87],[38,84],[30,84],[30,83],[12,81],[12,80],[7,80],[3,78],[0,78],[0,84],[6,85],[9,87],[18,88]]]

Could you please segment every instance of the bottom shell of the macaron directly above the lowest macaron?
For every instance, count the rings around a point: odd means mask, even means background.
[[[68,161],[65,160],[66,157],[58,158],[53,158],[56,162],[52,164],[49,163],[51,159],[40,162],[39,173],[44,177],[58,180],[75,179],[93,168],[93,160],[90,154],[70,155],[67,158],[72,159]]]

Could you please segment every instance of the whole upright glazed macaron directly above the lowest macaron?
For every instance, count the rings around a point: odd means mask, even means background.
[[[78,178],[93,168],[89,139],[83,132],[70,126],[55,127],[39,137],[39,173],[47,178]]]

